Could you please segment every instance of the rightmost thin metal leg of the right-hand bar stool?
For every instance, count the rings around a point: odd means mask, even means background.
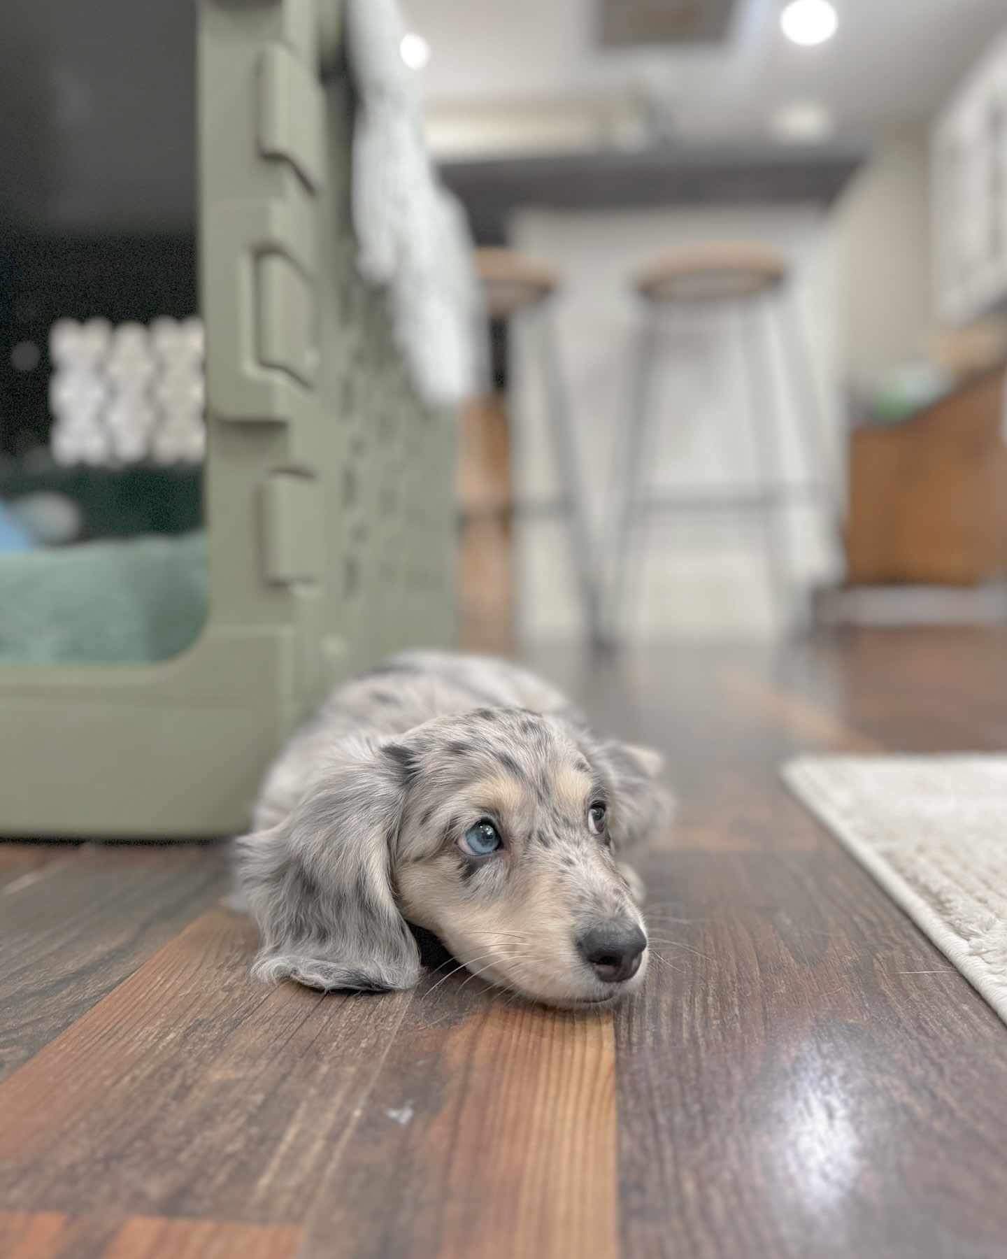
[[[830,539],[843,551],[843,481],[826,431],[826,410],[812,370],[811,350],[793,290],[774,305],[773,326],[797,403],[797,428],[807,472],[824,491]]]

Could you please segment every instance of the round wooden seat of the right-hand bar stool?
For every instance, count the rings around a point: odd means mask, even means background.
[[[662,253],[636,277],[636,287],[653,302],[731,301],[775,288],[788,269],[770,246],[711,240]]]

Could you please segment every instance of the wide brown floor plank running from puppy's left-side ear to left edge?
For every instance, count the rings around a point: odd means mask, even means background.
[[[5,1206],[302,1217],[410,996],[266,987],[253,949],[204,914],[0,1084]]]

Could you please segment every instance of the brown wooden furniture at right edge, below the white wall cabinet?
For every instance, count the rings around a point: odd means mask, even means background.
[[[1003,369],[850,441],[847,583],[976,585],[1007,560]]]

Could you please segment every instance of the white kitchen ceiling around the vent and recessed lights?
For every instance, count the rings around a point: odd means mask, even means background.
[[[430,44],[419,73],[441,115],[646,92],[690,137],[765,135],[796,103],[824,106],[851,138],[928,118],[1007,30],[1004,0],[833,0],[837,35],[799,48],[779,30],[782,0],[739,0],[720,44],[612,49],[599,0],[402,3]]]

